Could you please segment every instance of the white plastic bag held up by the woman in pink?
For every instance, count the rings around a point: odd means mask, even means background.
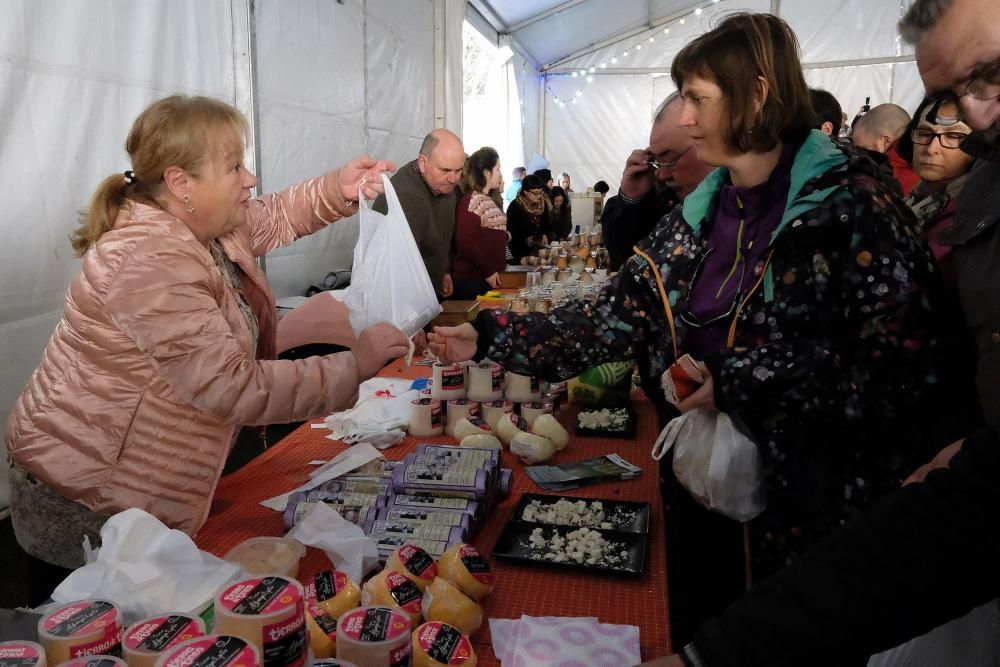
[[[382,182],[386,213],[372,210],[372,201],[359,193],[361,221],[351,284],[329,294],[350,310],[354,335],[388,322],[412,338],[441,312],[441,305],[396,191],[385,174]]]

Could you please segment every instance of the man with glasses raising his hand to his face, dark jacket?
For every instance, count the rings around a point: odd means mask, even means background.
[[[675,92],[660,105],[649,147],[628,156],[618,195],[604,205],[601,229],[615,269],[632,255],[632,246],[712,171],[698,159],[690,137],[679,127],[683,106],[679,102]]]

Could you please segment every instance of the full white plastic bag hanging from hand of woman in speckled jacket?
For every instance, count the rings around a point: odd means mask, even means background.
[[[757,445],[724,412],[691,410],[672,419],[653,445],[659,460],[671,447],[674,474],[695,500],[737,521],[764,511],[767,498]]]

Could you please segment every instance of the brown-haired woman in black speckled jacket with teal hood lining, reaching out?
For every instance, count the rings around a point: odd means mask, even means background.
[[[662,422],[716,409],[757,444],[768,505],[746,552],[740,524],[668,482],[668,539],[683,542],[670,550],[672,616],[690,631],[739,593],[744,565],[755,578],[784,567],[940,448],[887,437],[936,380],[937,276],[872,162],[810,130],[784,21],[732,15],[685,46],[671,75],[681,127],[719,168],[597,302],[481,313],[429,338],[444,360],[485,356],[551,380],[635,359]],[[685,353],[706,380],[675,408],[661,382]]]

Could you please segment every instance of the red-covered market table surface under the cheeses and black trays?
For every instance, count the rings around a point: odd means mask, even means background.
[[[426,367],[403,371],[397,363],[381,375],[416,378],[427,373]],[[636,438],[616,440],[573,436],[569,445],[551,463],[566,463],[617,452],[643,468],[642,474],[634,480],[597,484],[566,494],[650,504],[649,542],[641,577],[616,577],[526,565],[490,556],[494,542],[521,495],[540,492],[524,472],[524,465],[510,452],[503,452],[504,467],[514,471],[511,495],[493,509],[472,540],[480,553],[488,558],[497,581],[493,593],[483,601],[483,626],[473,637],[479,664],[483,667],[499,664],[493,654],[489,623],[485,619],[519,618],[522,614],[597,616],[603,623],[635,625],[641,633],[643,659],[650,660],[670,652],[663,503],[657,464],[649,456],[657,432],[656,415],[652,404],[646,400],[636,401],[635,411]],[[570,406],[563,411],[560,419],[564,424],[573,424],[575,413],[576,410]],[[310,461],[330,459],[344,450],[343,443],[326,439],[327,433],[326,430],[311,429],[306,423],[245,467],[224,477],[216,489],[211,515],[195,539],[198,546],[221,556],[249,537],[283,535],[281,514],[259,503],[302,484],[312,469]],[[388,458],[401,459],[413,451],[418,442],[454,444],[455,441],[447,436],[407,438],[384,453]],[[307,578],[330,567],[324,553],[310,548],[302,560],[300,577]]]

